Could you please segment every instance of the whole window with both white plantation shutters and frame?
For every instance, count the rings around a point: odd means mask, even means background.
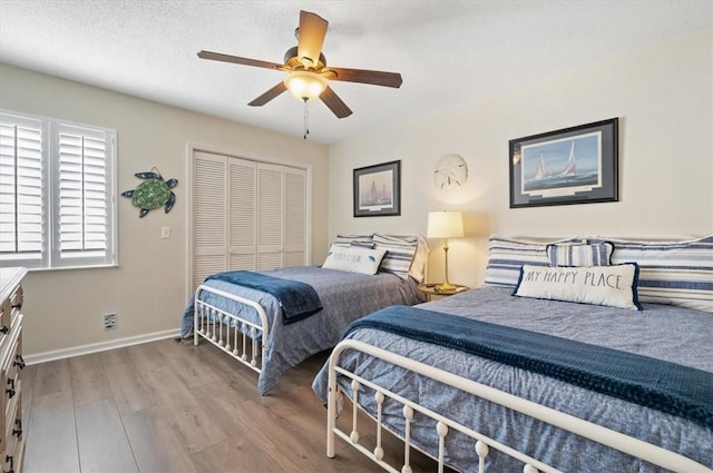
[[[0,265],[116,264],[116,131],[0,112]]]

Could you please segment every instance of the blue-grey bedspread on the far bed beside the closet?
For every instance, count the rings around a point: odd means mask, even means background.
[[[416,280],[403,280],[391,273],[363,275],[319,266],[287,267],[261,273],[310,285],[316,290],[323,306],[322,311],[297,324],[285,324],[282,322],[280,303],[264,290],[219,279],[205,282],[206,286],[254,300],[264,308],[271,328],[257,380],[257,387],[263,395],[277,386],[280,376],[285,371],[315,353],[333,347],[344,328],[356,318],[392,304],[423,302]],[[199,297],[229,314],[261,324],[260,316],[251,306],[205,292]],[[193,322],[194,297],[191,297],[183,313],[182,338],[191,336]],[[258,332],[256,336],[261,335],[262,332]]]

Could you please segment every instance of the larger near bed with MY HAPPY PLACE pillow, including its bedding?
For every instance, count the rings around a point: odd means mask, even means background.
[[[313,383],[326,453],[339,436],[392,472],[411,449],[439,471],[710,472],[712,312],[713,236],[494,236],[485,287],[348,328]]]

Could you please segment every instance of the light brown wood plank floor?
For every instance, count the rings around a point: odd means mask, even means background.
[[[206,342],[28,366],[23,471],[381,472],[341,440],[334,459],[324,453],[326,411],[311,384],[326,356],[287,372],[267,396],[256,373]],[[414,471],[436,469],[421,455],[412,461]]]

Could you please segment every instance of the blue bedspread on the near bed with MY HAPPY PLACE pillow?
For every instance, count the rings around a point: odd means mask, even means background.
[[[634,312],[616,307],[512,297],[511,292],[511,288],[485,287],[429,302],[419,308],[568,338],[637,354],[645,359],[657,358],[713,373],[713,317],[709,313],[660,304],[644,304],[644,312]],[[348,338],[389,349],[417,362],[632,435],[713,469],[713,427],[529,369],[378,328],[358,328],[351,332]],[[431,411],[459,420],[468,427],[564,472],[664,473],[663,469],[516,411],[476,400],[458,388],[369,357],[358,351],[342,352],[339,365],[403,397],[417,400]],[[338,376],[338,383],[342,390],[351,393],[349,380]],[[313,388],[326,401],[326,365],[315,377]],[[378,406],[373,391],[364,386],[361,386],[360,391],[360,404],[375,416]],[[382,415],[389,430],[403,433],[403,412],[400,404],[384,403]],[[411,437],[420,450],[436,454],[439,436],[434,422],[416,415],[411,423]],[[476,473],[478,457],[473,442],[456,431],[449,431],[448,438],[446,464],[458,471]],[[488,472],[522,471],[520,462],[498,452],[491,451],[488,459]]]

